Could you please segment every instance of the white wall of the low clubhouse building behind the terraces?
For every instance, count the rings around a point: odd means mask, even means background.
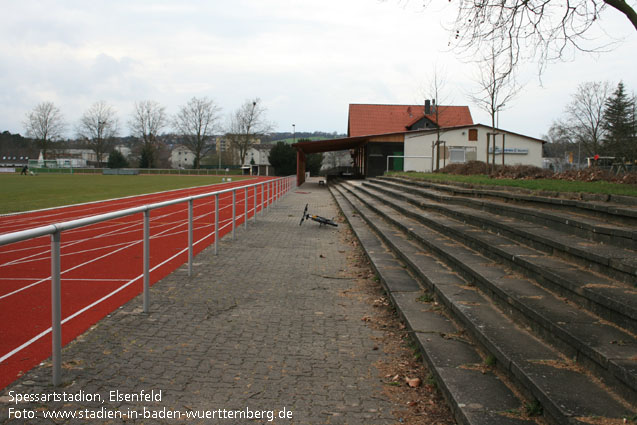
[[[477,129],[478,140],[469,140],[469,130]],[[443,155],[441,150],[440,168],[454,162],[468,162],[478,160],[485,162],[487,156],[487,133],[491,133],[491,128],[484,126],[466,127],[443,131],[440,140],[445,142],[447,153]],[[533,165],[542,167],[542,142],[518,134],[500,131],[505,135],[505,155],[506,165]],[[502,134],[496,136],[495,163],[502,164]],[[432,144],[436,141],[435,132],[406,134],[405,135],[405,156],[428,156],[429,158],[405,158],[405,171],[430,172],[435,163],[431,157],[436,157],[436,151],[432,152]],[[493,140],[491,140],[491,144]],[[489,154],[489,161],[492,155]]]

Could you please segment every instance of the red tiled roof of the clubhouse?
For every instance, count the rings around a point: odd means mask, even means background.
[[[453,127],[471,125],[473,118],[468,106],[438,106],[439,125]],[[349,137],[407,131],[425,116],[424,105],[350,104],[347,133]],[[436,115],[427,118],[436,122]]]

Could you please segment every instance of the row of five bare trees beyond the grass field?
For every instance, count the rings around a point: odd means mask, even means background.
[[[128,127],[138,140],[139,167],[157,167],[162,148],[159,135],[171,126],[180,144],[194,154],[194,168],[200,168],[202,158],[216,147],[216,135],[224,132],[220,122],[221,108],[207,97],[193,97],[179,108],[174,117],[168,116],[166,108],[156,101],[135,102]],[[62,139],[67,129],[60,108],[52,102],[36,105],[26,114],[24,126],[27,136],[36,141],[44,159],[52,143]],[[243,164],[247,151],[272,128],[261,100],[250,99],[232,114],[230,124],[225,129],[225,138],[230,148],[239,153]],[[113,140],[120,131],[117,113],[106,102],[96,102],[84,112],[75,130],[77,136],[95,152],[97,162],[101,164],[105,155],[112,151]]]

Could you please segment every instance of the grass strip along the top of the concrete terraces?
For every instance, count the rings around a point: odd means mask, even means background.
[[[496,179],[487,175],[456,175],[438,173],[417,172],[390,172],[389,176],[408,177],[412,179],[428,180],[438,183],[453,182],[466,183],[480,186],[507,186],[533,191],[574,192],[574,193],[601,193],[607,195],[622,195],[637,197],[637,185],[611,183],[606,181],[570,181],[558,179]]]

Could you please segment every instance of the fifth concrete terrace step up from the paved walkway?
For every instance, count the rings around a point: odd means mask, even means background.
[[[569,261],[592,268],[623,282],[637,282],[637,251],[626,247],[591,243],[587,239],[574,236],[568,229],[561,231],[540,224],[511,217],[505,217],[474,207],[449,204],[450,200],[441,198],[430,200],[431,194],[418,190],[406,193],[405,186],[396,184],[365,183],[388,195],[406,200],[420,208],[426,208],[462,220],[484,229],[506,235],[516,241],[532,246],[548,254],[560,255]],[[429,196],[430,199],[423,198]],[[505,206],[498,205],[496,210],[504,211]],[[637,233],[635,234],[637,235]]]

